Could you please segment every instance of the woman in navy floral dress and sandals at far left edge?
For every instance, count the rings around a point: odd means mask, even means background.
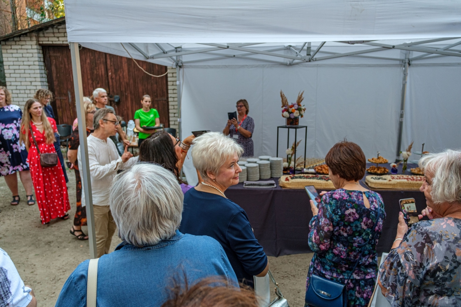
[[[24,185],[27,203],[35,204],[32,194],[32,179],[30,178],[27,151],[19,145],[19,127],[23,112],[15,104],[11,104],[11,95],[6,87],[0,87],[0,176],[5,177],[6,185],[13,194],[12,205],[19,204],[18,177]]]

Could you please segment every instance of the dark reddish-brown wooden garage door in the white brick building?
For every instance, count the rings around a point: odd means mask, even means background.
[[[42,46],[48,87],[54,93],[51,103],[59,124],[72,124],[77,117],[74,83],[72,77],[71,51],[68,46]],[[147,75],[131,58],[119,57],[82,48],[80,50],[83,95],[91,96],[97,87],[106,89],[109,103],[117,115],[126,122],[133,119],[135,111],[141,108],[141,98],[148,94],[152,108],[159,111],[160,122],[169,127],[168,81],[166,75],[160,78]],[[153,75],[162,75],[166,67],[144,61],[137,61]],[[120,96],[115,104],[113,97]]]

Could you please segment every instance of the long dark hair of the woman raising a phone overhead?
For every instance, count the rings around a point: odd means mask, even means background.
[[[166,131],[157,131],[141,143],[138,161],[157,163],[171,171],[179,183],[184,183],[179,178],[179,169],[176,166],[177,155],[173,141],[170,133]]]

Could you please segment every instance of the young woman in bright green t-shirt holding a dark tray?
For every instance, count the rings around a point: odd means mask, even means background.
[[[141,146],[143,140],[156,131],[154,129],[143,129],[142,127],[160,126],[159,112],[150,108],[152,104],[150,96],[142,96],[141,104],[142,109],[135,112],[135,127],[139,131],[138,147]]]

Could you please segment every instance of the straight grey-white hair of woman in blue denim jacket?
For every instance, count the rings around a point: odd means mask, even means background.
[[[154,163],[137,163],[114,177],[109,203],[118,237],[137,247],[175,235],[183,192],[176,177]]]

